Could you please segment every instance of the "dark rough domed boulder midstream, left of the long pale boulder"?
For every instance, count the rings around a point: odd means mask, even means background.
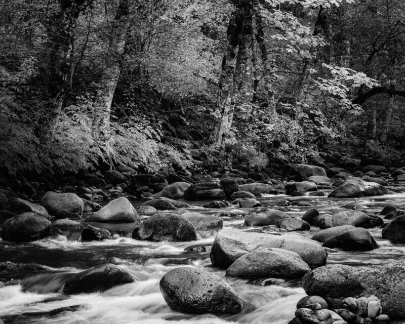
[[[195,228],[185,217],[177,214],[159,213],[135,227],[132,237],[150,241],[196,240]]]

